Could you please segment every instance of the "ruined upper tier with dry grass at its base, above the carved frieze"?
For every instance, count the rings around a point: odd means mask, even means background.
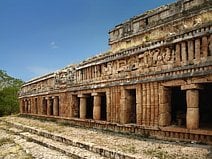
[[[179,0],[135,16],[109,32],[111,51],[161,40],[200,23],[207,23],[211,18],[201,16],[200,12],[209,10],[211,3],[211,0]],[[187,23],[189,18],[192,20]]]

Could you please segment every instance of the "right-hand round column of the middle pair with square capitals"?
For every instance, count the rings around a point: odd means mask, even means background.
[[[92,96],[94,96],[93,119],[100,120],[101,119],[101,94],[92,93]]]

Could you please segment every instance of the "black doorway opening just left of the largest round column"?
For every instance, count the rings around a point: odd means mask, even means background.
[[[171,124],[186,126],[186,91],[180,87],[171,88]]]

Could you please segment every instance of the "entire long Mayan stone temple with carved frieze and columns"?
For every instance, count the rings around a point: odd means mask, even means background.
[[[212,1],[178,0],[109,36],[107,52],[26,82],[21,114],[212,143]]]

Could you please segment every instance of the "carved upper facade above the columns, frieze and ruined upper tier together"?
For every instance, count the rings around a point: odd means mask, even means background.
[[[173,6],[184,9],[177,12],[175,8],[168,17]],[[166,18],[154,21],[159,15]],[[146,17],[149,25],[140,28],[140,20]],[[138,23],[139,29],[114,40],[112,50],[30,80],[19,96],[211,74],[212,0],[178,1],[134,17],[113,31],[119,31],[128,22],[131,26]]]

